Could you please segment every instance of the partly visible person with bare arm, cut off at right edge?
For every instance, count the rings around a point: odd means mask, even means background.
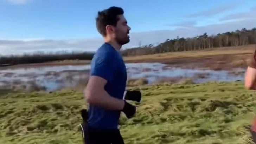
[[[250,57],[247,65],[248,67],[245,72],[244,86],[248,90],[256,90],[256,49],[254,54]],[[256,117],[254,118],[251,126],[251,135],[253,142],[256,143]]]

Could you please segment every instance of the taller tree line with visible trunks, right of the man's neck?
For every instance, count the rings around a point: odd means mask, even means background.
[[[126,49],[122,51],[123,56],[147,55],[165,52],[193,51],[206,48],[230,47],[256,44],[256,28],[247,30],[236,30],[232,32],[219,33],[217,35],[208,35],[204,33],[196,37],[179,37],[167,39],[157,46],[152,44]]]

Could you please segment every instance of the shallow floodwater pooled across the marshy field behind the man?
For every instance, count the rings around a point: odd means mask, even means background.
[[[191,79],[194,83],[205,81],[243,80],[244,69],[213,71],[168,67],[161,63],[127,63],[129,79],[146,79],[148,83],[177,82]],[[0,70],[1,88],[57,90],[85,84],[90,65],[46,66]]]

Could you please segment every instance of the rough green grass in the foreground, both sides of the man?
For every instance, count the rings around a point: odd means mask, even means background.
[[[136,87],[138,88],[138,87]],[[241,82],[139,87],[135,118],[120,119],[126,144],[247,144],[254,91]],[[82,144],[76,91],[0,96],[1,144]]]

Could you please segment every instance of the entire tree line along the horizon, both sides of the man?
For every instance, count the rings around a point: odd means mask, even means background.
[[[256,44],[256,28],[236,30],[232,32],[219,33],[217,35],[208,35],[204,33],[196,37],[179,37],[167,39],[159,45],[153,44],[139,46],[122,50],[123,56],[148,55],[165,52],[193,51],[206,48],[230,47]],[[72,52],[72,53],[43,53],[24,54],[21,56],[11,55],[0,57],[0,65],[9,64],[31,64],[43,63],[59,60],[91,60],[92,52]]]

